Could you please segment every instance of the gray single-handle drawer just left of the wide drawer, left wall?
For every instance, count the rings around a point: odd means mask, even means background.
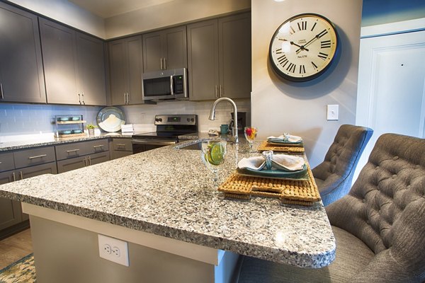
[[[53,146],[26,149],[13,152],[15,167],[23,168],[56,161],[55,148]]]

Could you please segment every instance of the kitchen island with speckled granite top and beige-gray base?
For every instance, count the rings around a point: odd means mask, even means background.
[[[228,145],[220,181],[246,149],[244,141],[239,150]],[[237,255],[310,268],[334,260],[321,202],[301,207],[262,197],[227,200],[211,177],[200,151],[166,146],[1,185],[0,197],[23,202],[30,214],[40,282],[52,274],[62,282],[89,282],[81,279],[85,275],[96,276],[95,282],[164,282],[163,276],[226,282]],[[98,234],[129,242],[129,267],[98,258]]]

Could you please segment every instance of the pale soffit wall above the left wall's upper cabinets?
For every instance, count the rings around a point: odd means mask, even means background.
[[[105,38],[103,18],[80,8],[67,0],[9,0],[61,23],[71,25],[86,33]]]

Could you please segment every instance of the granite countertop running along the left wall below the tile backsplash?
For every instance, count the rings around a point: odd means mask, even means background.
[[[30,149],[38,146],[54,146],[57,144],[67,144],[69,142],[76,141],[89,141],[92,139],[106,139],[111,137],[119,138],[131,138],[131,134],[121,134],[120,132],[113,133],[101,133],[94,136],[81,136],[81,137],[68,137],[68,138],[55,138],[55,137],[42,137],[37,138],[37,135],[34,135],[34,139],[26,139],[23,141],[6,141],[0,142],[0,152],[1,151],[12,151],[16,149]]]

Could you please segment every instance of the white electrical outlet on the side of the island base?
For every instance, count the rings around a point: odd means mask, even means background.
[[[101,258],[129,266],[127,242],[98,234],[98,244]]]

